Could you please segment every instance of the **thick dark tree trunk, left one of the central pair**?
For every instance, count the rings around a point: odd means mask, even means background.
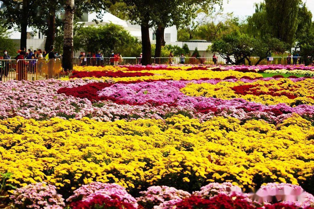
[[[143,22],[141,24],[141,32],[142,32],[142,65],[149,65],[152,63],[152,48],[150,45],[149,39],[149,24],[147,22]]]

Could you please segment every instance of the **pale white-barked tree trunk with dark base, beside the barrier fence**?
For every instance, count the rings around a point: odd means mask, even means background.
[[[73,18],[74,0],[66,0],[62,57],[62,66],[65,71],[73,70]]]

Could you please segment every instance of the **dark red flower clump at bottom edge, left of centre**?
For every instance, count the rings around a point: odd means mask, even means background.
[[[95,195],[90,200],[72,202],[70,207],[72,209],[135,209],[132,204],[119,199],[120,197],[116,195],[111,195],[111,198]]]

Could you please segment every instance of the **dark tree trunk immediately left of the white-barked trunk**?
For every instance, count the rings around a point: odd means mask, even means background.
[[[46,43],[45,50],[48,52],[50,50],[50,46],[54,45],[55,42],[55,33],[56,33],[56,10],[51,7],[49,8],[49,18],[47,22],[47,30],[46,30]]]

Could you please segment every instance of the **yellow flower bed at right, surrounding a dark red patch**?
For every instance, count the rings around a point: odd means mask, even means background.
[[[232,88],[236,86],[257,85],[256,87],[247,87],[246,95],[237,94]],[[273,105],[278,103],[286,103],[291,106],[298,104],[314,105],[314,89],[309,88],[314,86],[314,79],[305,79],[304,81],[293,82],[290,79],[279,80],[257,80],[253,83],[244,83],[242,81],[219,82],[216,85],[210,83],[190,84],[180,91],[188,96],[194,97],[215,97],[221,99],[242,98],[247,101],[260,102],[266,105]],[[253,95],[251,91],[266,92],[262,95]],[[274,93],[270,93],[273,91]],[[296,98],[288,98],[284,93],[290,94]]]

